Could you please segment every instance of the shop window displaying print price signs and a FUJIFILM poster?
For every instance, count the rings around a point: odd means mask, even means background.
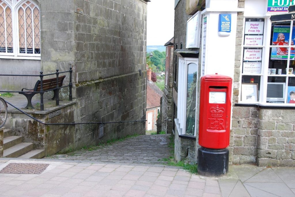
[[[241,103],[294,105],[295,23],[246,18]],[[266,29],[269,29],[266,32]]]

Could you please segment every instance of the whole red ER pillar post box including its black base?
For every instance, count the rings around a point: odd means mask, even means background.
[[[232,78],[224,75],[201,77],[198,172],[221,176],[228,171]]]

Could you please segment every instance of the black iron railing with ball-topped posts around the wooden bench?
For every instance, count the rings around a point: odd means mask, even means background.
[[[72,84],[72,67],[70,67],[70,70],[69,71],[63,71],[63,72],[59,72],[58,69],[56,69],[56,72],[55,73],[52,73],[52,74],[43,74],[42,71],[40,71],[40,75],[11,75],[11,74],[0,74],[0,76],[38,76],[40,77],[40,91],[2,91],[0,90],[0,92],[15,92],[15,93],[19,93],[19,92],[23,92],[23,93],[39,93],[40,94],[40,110],[41,111],[44,111],[44,103],[43,103],[43,94],[44,92],[48,92],[48,91],[55,91],[55,104],[56,106],[59,105],[59,89],[61,88],[65,88],[65,87],[69,87],[69,100],[72,101],[72,87],[73,87],[73,84]],[[60,73],[70,73],[70,82],[68,85],[66,86],[61,86],[59,87],[58,86],[58,75]],[[46,90],[46,91],[43,91],[43,77],[44,76],[49,76],[49,75],[56,75],[56,87],[53,88],[53,89],[50,89],[50,90]]]

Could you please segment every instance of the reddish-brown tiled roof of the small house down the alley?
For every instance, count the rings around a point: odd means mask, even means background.
[[[147,80],[147,109],[160,107],[160,98],[163,92],[153,82]]]

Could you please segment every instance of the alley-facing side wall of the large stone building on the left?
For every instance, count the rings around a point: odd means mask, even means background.
[[[76,0],[75,7],[83,8],[74,24],[77,121],[145,120],[146,2]],[[105,124],[101,139],[93,126],[76,129],[79,148],[144,134],[145,122]]]

